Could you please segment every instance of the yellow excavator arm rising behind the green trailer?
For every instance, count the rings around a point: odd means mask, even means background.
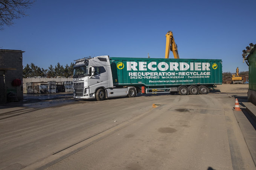
[[[169,59],[169,53],[171,50],[174,55],[174,59],[179,59],[180,56],[178,54],[177,44],[175,44],[172,32],[168,31],[168,33],[165,36],[166,36],[165,58]]]

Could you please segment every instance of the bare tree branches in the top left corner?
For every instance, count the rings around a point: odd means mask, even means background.
[[[0,30],[14,24],[13,20],[27,16],[26,9],[36,0],[0,0]]]

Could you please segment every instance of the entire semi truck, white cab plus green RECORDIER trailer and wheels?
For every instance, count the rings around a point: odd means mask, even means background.
[[[74,98],[129,96],[137,93],[207,94],[222,84],[222,61],[99,56],[75,60]]]

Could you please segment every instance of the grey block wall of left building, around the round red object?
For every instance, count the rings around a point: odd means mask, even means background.
[[[20,50],[0,50],[0,57],[2,65],[0,68],[6,69],[5,72],[5,87],[6,90],[16,90],[18,99],[23,99],[23,85],[14,87],[12,81],[20,79],[22,82],[23,66],[22,53]],[[15,68],[16,70],[8,70],[8,68]]]

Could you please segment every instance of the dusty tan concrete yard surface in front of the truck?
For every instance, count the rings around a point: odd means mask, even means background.
[[[233,111],[248,84],[216,89],[5,110],[0,169],[255,170]]]

